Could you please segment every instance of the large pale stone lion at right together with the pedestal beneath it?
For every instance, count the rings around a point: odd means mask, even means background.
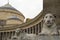
[[[43,27],[38,35],[38,40],[60,40],[53,14],[48,13],[43,17]]]

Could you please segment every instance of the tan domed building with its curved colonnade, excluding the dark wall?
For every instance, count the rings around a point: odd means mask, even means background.
[[[38,34],[41,32],[42,12],[33,19],[27,18],[12,7],[9,3],[0,7],[0,40],[7,40],[15,35],[17,28],[23,29],[25,33]]]

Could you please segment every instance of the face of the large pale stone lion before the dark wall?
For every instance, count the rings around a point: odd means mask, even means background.
[[[46,26],[51,27],[55,22],[55,17],[48,13],[44,16],[43,21]]]

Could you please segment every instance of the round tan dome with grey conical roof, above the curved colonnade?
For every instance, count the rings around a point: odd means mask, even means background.
[[[22,24],[25,17],[21,12],[7,3],[0,7],[0,19],[7,20],[7,24]]]

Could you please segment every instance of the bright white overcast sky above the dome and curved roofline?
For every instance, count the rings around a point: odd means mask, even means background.
[[[0,0],[0,6],[8,3],[8,0]],[[43,9],[43,0],[9,0],[9,3],[22,12],[26,18],[34,18]]]

